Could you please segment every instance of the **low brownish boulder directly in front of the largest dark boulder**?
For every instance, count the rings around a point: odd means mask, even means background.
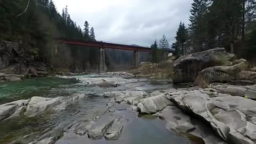
[[[234,66],[216,66],[202,70],[195,81],[196,84],[202,80],[207,82],[228,82],[231,80],[239,80],[240,72],[248,68],[247,62],[241,62]]]

